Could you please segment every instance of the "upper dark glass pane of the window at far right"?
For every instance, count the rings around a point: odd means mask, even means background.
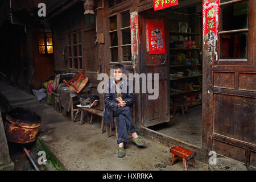
[[[234,3],[221,8],[221,30],[237,30],[248,27],[249,2]]]

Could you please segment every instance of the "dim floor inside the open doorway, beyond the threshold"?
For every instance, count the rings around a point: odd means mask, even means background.
[[[202,146],[202,107],[189,108],[189,113],[183,117],[181,111],[177,111],[168,123],[149,127],[151,130],[188,142],[196,146]]]

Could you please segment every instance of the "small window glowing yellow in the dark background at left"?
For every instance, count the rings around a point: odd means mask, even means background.
[[[38,49],[40,54],[53,53],[52,33],[38,30]]]

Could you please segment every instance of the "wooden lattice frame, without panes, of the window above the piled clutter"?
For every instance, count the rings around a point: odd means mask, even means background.
[[[81,42],[79,43],[79,32],[81,36]],[[76,34],[76,44],[74,43],[73,35]],[[70,36],[70,37],[69,37]],[[68,39],[68,68],[70,70],[83,70],[83,61],[82,61],[82,31],[75,31],[75,32],[70,32],[67,34],[67,39]],[[71,42],[71,44],[70,44]],[[77,56],[74,54],[74,47],[76,46],[76,51],[77,51]],[[80,49],[79,46],[81,46],[81,56],[80,56]],[[71,47],[71,53],[70,53],[70,48]],[[70,67],[71,62],[70,59],[72,60],[72,68]],[[77,59],[77,68],[75,68],[75,59]],[[81,64],[80,65],[80,59],[81,59]]]

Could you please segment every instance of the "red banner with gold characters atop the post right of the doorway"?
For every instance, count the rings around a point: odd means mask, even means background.
[[[203,31],[214,32],[217,36],[219,0],[203,0]]]

